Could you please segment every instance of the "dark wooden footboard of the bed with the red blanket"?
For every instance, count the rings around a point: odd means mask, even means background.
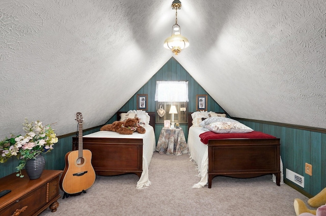
[[[280,186],[280,139],[222,139],[208,142],[208,188],[223,175],[251,178],[275,174]]]

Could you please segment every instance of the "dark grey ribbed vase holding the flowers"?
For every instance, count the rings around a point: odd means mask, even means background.
[[[36,159],[30,159],[26,161],[26,173],[31,180],[41,177],[44,168],[45,158],[42,155],[37,156]]]

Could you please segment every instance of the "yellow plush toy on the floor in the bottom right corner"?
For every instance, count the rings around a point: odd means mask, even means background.
[[[319,192],[316,196],[308,200],[311,207],[318,207],[316,210],[309,209],[305,202],[301,199],[294,199],[294,211],[296,216],[326,216],[326,188]]]

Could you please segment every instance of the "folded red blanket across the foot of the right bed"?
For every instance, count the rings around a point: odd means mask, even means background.
[[[275,136],[264,134],[260,131],[253,131],[250,133],[234,133],[234,134],[217,134],[211,131],[199,135],[200,141],[204,144],[208,143],[210,139],[273,139]]]

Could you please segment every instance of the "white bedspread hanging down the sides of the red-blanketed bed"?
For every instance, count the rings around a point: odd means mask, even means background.
[[[197,164],[198,176],[200,181],[194,184],[193,188],[202,188],[208,184],[208,145],[205,145],[200,141],[199,135],[204,133],[202,127],[192,126],[189,128],[188,132],[188,149],[190,153],[190,159]],[[283,163],[281,164],[281,184],[284,183],[283,180]],[[276,176],[273,174],[272,180],[276,182]]]

